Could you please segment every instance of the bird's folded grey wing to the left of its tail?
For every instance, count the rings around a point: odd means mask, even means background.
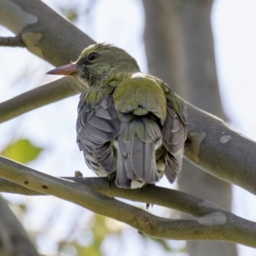
[[[89,88],[81,95],[77,118],[77,144],[89,168],[106,176],[116,170],[111,147],[120,130],[113,96],[102,88]]]

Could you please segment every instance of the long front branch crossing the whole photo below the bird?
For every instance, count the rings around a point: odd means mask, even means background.
[[[196,220],[169,220],[102,195],[83,184],[36,172],[4,157],[0,157],[0,176],[28,189],[57,196],[98,214],[127,223],[148,236],[166,239],[229,241],[256,248],[255,223],[239,218],[204,200],[199,202],[197,207],[211,210],[200,218]],[[152,186],[146,187],[146,189],[152,189]],[[125,191],[125,189],[120,189],[120,191]],[[134,192],[127,190],[127,195],[128,193]],[[140,191],[140,193],[143,192]]]

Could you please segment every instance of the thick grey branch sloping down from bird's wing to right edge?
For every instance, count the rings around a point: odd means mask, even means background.
[[[256,143],[223,120],[188,106],[188,161],[220,179],[256,195]],[[217,189],[217,188],[216,188]]]

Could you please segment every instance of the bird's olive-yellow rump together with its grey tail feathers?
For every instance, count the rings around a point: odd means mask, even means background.
[[[155,79],[132,74],[123,77],[113,97],[121,120],[116,185],[141,188],[157,182],[155,150],[161,144],[160,120],[166,118],[163,90]]]

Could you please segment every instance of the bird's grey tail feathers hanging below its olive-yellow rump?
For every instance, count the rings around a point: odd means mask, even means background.
[[[161,145],[159,125],[150,118],[134,118],[121,124],[118,136],[118,170],[116,186],[141,188],[159,179],[156,149]]]

